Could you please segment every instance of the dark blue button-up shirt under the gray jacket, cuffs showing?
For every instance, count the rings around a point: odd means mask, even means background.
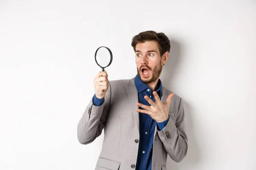
[[[135,86],[138,91],[138,101],[143,105],[150,104],[144,99],[144,96],[147,95],[151,100],[155,102],[153,91],[141,81],[140,77],[136,75],[134,80]],[[158,96],[162,97],[162,83],[160,79],[157,83]],[[95,94],[93,96],[93,105],[100,106],[104,102],[103,99],[98,99]],[[140,108],[140,107],[139,107]],[[143,108],[140,108],[143,109]],[[153,153],[153,143],[154,143],[154,130],[157,125],[158,130],[162,130],[168,123],[170,117],[164,122],[156,122],[148,114],[139,113],[140,117],[140,142],[136,163],[136,170],[151,170],[152,166],[152,153]]]

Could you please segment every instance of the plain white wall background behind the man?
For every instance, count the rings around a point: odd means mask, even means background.
[[[146,30],[171,41],[160,79],[186,112],[189,150],[167,169],[255,170],[255,0],[0,0],[0,169],[94,170],[104,134],[76,136],[94,53],[109,47],[109,80],[131,79]]]

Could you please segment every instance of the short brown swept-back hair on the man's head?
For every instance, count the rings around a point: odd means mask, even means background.
[[[162,32],[156,33],[155,31],[144,31],[135,35],[131,41],[131,46],[134,48],[134,52],[136,50],[137,43],[145,41],[156,41],[158,43],[161,57],[166,51],[170,52],[171,45],[168,37]]]

